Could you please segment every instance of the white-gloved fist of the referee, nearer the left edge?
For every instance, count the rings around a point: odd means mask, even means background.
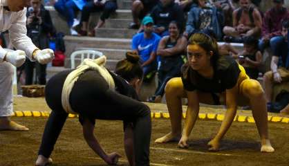
[[[6,53],[6,62],[9,62],[10,64],[19,67],[22,64],[24,64],[26,59],[26,54],[23,50],[14,50],[14,51],[8,51]]]

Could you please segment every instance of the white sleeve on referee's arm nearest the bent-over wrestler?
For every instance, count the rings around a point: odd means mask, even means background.
[[[21,10],[20,12],[17,12],[17,19],[12,22],[12,26],[9,29],[9,37],[10,41],[13,46],[17,50],[24,50],[26,53],[26,56],[32,60],[32,53],[35,49],[38,49],[31,41],[31,39],[26,35],[27,29],[26,29],[26,8],[24,10]]]

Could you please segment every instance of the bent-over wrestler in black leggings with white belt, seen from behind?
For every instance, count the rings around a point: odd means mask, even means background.
[[[139,57],[127,53],[127,58],[116,65],[116,74],[103,67],[105,60],[104,56],[85,59],[77,69],[58,73],[46,84],[46,102],[52,111],[44,129],[37,166],[52,163],[49,156],[68,113],[79,115],[86,142],[109,165],[115,164],[120,156],[115,152],[106,154],[97,142],[93,134],[95,119],[123,120],[129,164],[149,165],[151,113],[147,105],[138,101],[142,84]]]

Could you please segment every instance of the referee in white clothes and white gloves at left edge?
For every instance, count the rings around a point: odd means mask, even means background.
[[[0,0],[0,33],[8,30],[10,42],[17,49],[8,52],[0,46],[0,131],[28,130],[10,120],[13,66],[24,64],[25,56],[40,64],[47,64],[54,57],[53,50],[39,50],[26,35],[26,7],[29,3],[30,0]]]

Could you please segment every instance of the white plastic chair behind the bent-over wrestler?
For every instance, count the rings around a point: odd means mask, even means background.
[[[98,50],[76,50],[71,54],[71,68],[75,68],[75,59],[79,59],[77,57],[80,57],[80,62],[83,62],[86,58],[95,59],[102,55],[103,53]]]

